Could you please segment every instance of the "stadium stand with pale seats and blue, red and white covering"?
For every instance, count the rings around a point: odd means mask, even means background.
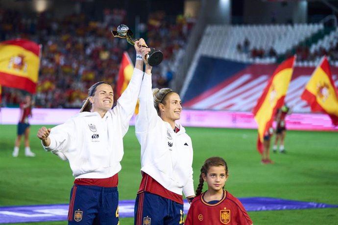
[[[322,23],[209,24],[181,90],[184,106],[251,111],[275,69],[272,65],[296,54],[286,101],[294,112],[311,112],[300,95],[323,55],[328,56],[333,74],[337,74],[337,28],[325,30]],[[337,75],[334,80],[338,83]]]

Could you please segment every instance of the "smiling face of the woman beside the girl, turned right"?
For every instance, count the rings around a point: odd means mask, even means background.
[[[177,93],[169,93],[165,104],[159,104],[161,118],[170,124],[175,123],[176,120],[181,118],[181,102],[181,98]]]

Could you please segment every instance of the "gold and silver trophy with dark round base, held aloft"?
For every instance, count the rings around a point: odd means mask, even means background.
[[[125,38],[130,45],[135,45],[135,42],[139,40],[133,39],[134,33],[129,29],[128,26],[121,24],[118,26],[118,30],[112,30],[112,34],[114,37]],[[142,45],[143,47],[148,47]],[[140,46],[141,47],[141,46]],[[159,65],[163,60],[163,53],[160,50],[156,50],[155,48],[150,48],[149,53],[145,56],[146,61],[152,67]]]

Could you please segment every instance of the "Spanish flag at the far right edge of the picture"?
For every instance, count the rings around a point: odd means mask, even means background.
[[[338,126],[337,88],[332,79],[331,69],[324,56],[315,68],[301,95],[308,102],[312,112],[324,112],[331,117],[332,124]]]

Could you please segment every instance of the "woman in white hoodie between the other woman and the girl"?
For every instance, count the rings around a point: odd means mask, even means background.
[[[151,68],[145,61],[135,124],[141,144],[142,181],[134,223],[183,225],[183,194],[189,201],[194,197],[192,141],[176,122],[182,111],[180,96],[168,88],[152,91]]]

